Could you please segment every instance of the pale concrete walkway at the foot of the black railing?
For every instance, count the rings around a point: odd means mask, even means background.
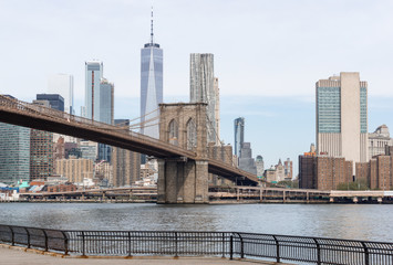
[[[0,264],[7,265],[104,265],[104,264],[131,264],[131,265],[153,265],[153,264],[175,264],[175,265],[247,265],[247,264],[278,264],[269,262],[257,262],[249,259],[234,259],[219,257],[100,257],[100,258],[80,258],[63,256],[61,254],[44,253],[37,250],[27,250],[25,247],[9,246],[0,244]],[[282,264],[282,263],[280,263]]]

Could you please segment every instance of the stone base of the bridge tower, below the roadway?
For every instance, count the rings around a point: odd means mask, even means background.
[[[157,203],[208,203],[207,160],[158,160]]]

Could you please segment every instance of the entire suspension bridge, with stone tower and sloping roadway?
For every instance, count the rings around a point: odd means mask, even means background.
[[[152,156],[158,160],[158,203],[207,203],[208,174],[257,186],[256,174],[217,159],[207,142],[206,104],[159,105],[159,139],[44,106],[0,95],[0,121],[83,138]],[[175,139],[175,140],[174,140]]]

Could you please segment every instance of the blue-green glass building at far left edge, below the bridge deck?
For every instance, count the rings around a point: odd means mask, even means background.
[[[30,180],[30,129],[0,123],[0,182]]]

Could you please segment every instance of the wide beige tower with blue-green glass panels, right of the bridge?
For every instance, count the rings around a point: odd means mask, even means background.
[[[317,153],[368,161],[368,83],[359,73],[320,80],[317,89]],[[353,168],[354,172],[354,168]]]

